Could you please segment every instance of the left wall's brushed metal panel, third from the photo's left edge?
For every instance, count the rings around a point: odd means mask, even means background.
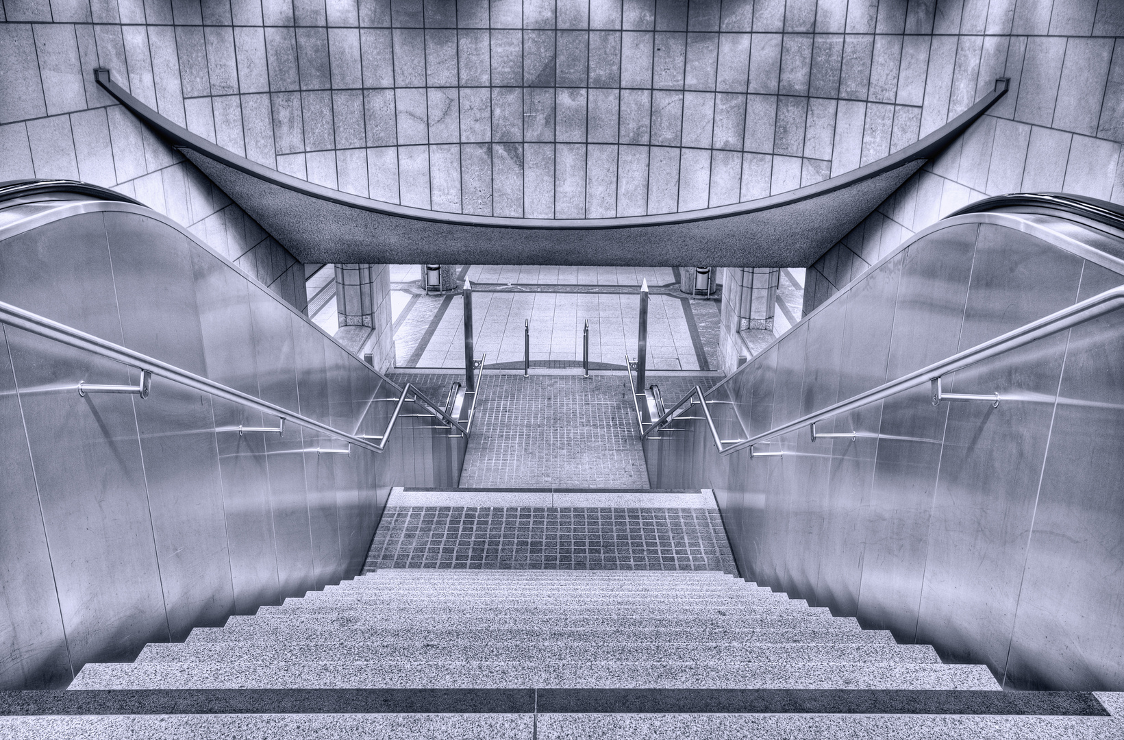
[[[124,344],[203,373],[189,240],[139,214],[105,219]],[[209,396],[160,377],[135,408],[167,622],[181,640],[234,608],[215,415]]]

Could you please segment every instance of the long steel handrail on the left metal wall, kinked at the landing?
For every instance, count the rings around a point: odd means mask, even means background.
[[[201,392],[210,394],[212,396],[217,396],[219,398],[233,401],[235,404],[239,404],[242,406],[248,406],[260,412],[279,416],[282,419],[294,422],[297,424],[300,424],[301,426],[316,430],[317,432],[321,432],[324,434],[327,434],[328,436],[334,436],[344,440],[350,444],[354,444],[363,449],[371,450],[372,452],[382,452],[383,449],[386,449],[387,437],[390,436],[390,431],[393,428],[395,422],[398,419],[399,412],[402,407],[402,403],[407,399],[406,397],[408,392],[413,391],[414,394],[414,398],[411,400],[419,399],[419,403],[439,413],[439,409],[434,407],[433,401],[430,401],[428,398],[418,392],[418,390],[416,388],[413,388],[410,383],[406,383],[406,386],[400,389],[399,397],[397,399],[398,405],[395,407],[395,413],[391,415],[390,421],[387,424],[386,431],[377,437],[356,436],[354,434],[342,432],[333,426],[318,422],[315,418],[309,418],[308,416],[303,416],[301,414],[292,412],[288,408],[284,408],[283,406],[278,406],[277,404],[271,404],[266,400],[262,400],[261,398],[255,398],[254,396],[244,394],[241,390],[235,390],[234,388],[224,386],[223,383],[219,382],[215,382],[214,380],[210,380],[208,378],[197,376],[196,373],[190,372],[188,370],[183,370],[182,368],[178,368],[173,364],[169,364],[167,362],[156,360],[155,358],[149,358],[148,355],[142,354],[140,352],[129,350],[128,348],[124,348],[119,344],[115,344],[114,342],[109,342],[92,334],[87,334],[85,332],[76,330],[72,326],[60,324],[56,321],[49,319],[45,316],[39,316],[38,314],[25,310],[22,308],[19,308],[18,306],[12,306],[11,304],[0,301],[0,322],[8,324],[10,326],[15,326],[16,328],[22,330],[25,332],[29,332],[31,334],[46,337],[48,340],[53,340],[61,344],[65,344],[67,346],[72,346],[79,350],[84,350],[87,352],[93,352],[94,354],[99,354],[103,358],[108,358],[116,362],[120,362],[121,364],[137,368],[138,370],[142,371],[142,373],[151,373],[160,376],[162,378],[172,380],[173,382],[178,382],[189,388],[193,388]],[[97,388],[96,386],[94,387],[84,386],[83,383],[75,385],[75,388],[80,387],[87,392],[90,392],[91,390]],[[442,415],[447,416],[444,414]],[[462,427],[456,422],[456,419],[450,418],[450,421],[462,432],[464,432],[465,434],[468,433],[464,430],[464,427]],[[245,432],[252,430],[243,427],[242,431]],[[269,431],[277,432],[280,430],[274,428]],[[375,444],[370,441],[371,439],[381,439],[382,442]]]

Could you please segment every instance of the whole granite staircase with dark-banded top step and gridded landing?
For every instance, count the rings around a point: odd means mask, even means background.
[[[1003,692],[741,580],[709,491],[447,496],[392,495],[368,572],[88,664],[0,737],[1124,737],[1120,695]]]

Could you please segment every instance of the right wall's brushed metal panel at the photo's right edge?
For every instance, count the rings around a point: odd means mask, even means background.
[[[1086,263],[1079,299],[1124,282]],[[1071,331],[1005,685],[1124,685],[1124,315]],[[1097,475],[1088,475],[1095,464]],[[1081,481],[1081,485],[1075,485]]]

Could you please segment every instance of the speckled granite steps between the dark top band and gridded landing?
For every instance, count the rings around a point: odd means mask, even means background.
[[[984,666],[726,574],[408,569],[87,665],[71,688],[173,685],[998,688]]]

